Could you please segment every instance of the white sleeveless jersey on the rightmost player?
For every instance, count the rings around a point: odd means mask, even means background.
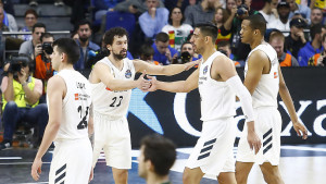
[[[255,47],[248,56],[250,57],[256,50],[263,51],[269,59],[271,71],[268,74],[262,74],[262,77],[252,95],[253,108],[259,107],[276,107],[277,108],[277,95],[279,88],[279,76],[278,76],[278,59],[274,48],[265,42]],[[248,62],[244,66],[244,77],[248,71]]]

